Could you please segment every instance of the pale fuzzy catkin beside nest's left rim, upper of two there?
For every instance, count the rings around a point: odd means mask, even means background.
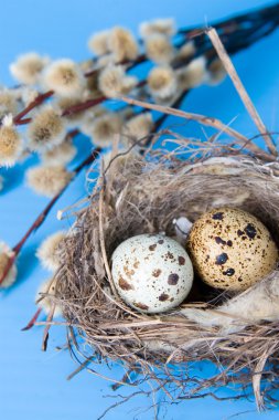
[[[36,251],[36,256],[39,258],[41,264],[50,270],[58,270],[61,265],[61,259],[58,255],[60,246],[65,238],[64,231],[58,231],[54,234],[47,237],[40,245]]]

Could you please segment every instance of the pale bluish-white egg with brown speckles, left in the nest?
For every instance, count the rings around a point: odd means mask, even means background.
[[[186,251],[162,234],[140,234],[124,241],[111,256],[111,274],[121,298],[149,314],[180,305],[193,283]]]

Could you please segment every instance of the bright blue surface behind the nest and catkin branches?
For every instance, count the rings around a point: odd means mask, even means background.
[[[157,17],[174,17],[180,25],[192,25],[268,3],[270,2],[259,0],[1,0],[0,83],[12,84],[8,65],[22,52],[33,50],[52,57],[86,57],[86,40],[95,30],[114,24],[136,30],[140,21]],[[254,103],[271,130],[279,126],[278,44],[279,30],[234,59]],[[222,118],[225,123],[237,117],[234,122],[236,129],[247,136],[256,133],[228,80],[217,87],[201,87],[191,93],[184,107]],[[168,119],[168,125],[173,123],[173,118]],[[204,136],[196,127],[193,127],[193,133]],[[88,148],[88,145],[84,143],[83,147]],[[23,169],[19,166],[4,174],[8,182],[0,196],[0,239],[10,245],[17,243],[47,202],[47,199],[35,196],[24,186]],[[114,399],[105,398],[106,395],[112,395],[108,384],[86,371],[72,381],[66,381],[66,376],[76,365],[67,353],[55,350],[55,346],[65,342],[63,328],[52,329],[46,354],[40,349],[42,328],[20,332],[35,309],[33,298],[37,285],[49,275],[39,266],[34,251],[45,235],[69,225],[69,220],[56,221],[56,211],[78,200],[84,191],[82,174],[55,206],[43,227],[28,241],[19,260],[20,277],[17,285],[0,295],[1,419],[94,420],[115,402]],[[203,368],[205,369],[204,366]],[[110,375],[120,378],[122,371],[120,367],[114,366]],[[116,408],[107,419],[150,419],[152,410],[144,412],[150,403],[150,400],[139,398]],[[207,398],[169,406],[167,410],[162,408],[159,417],[168,420],[182,417],[194,417],[196,420],[234,417],[266,420],[278,418],[278,411],[258,417],[253,401],[218,402]]]

